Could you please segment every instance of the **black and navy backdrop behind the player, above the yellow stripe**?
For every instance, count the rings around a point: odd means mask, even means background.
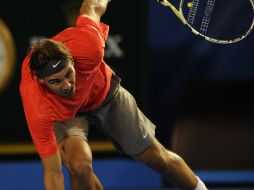
[[[31,141],[18,90],[22,60],[34,37],[51,37],[69,26],[69,2],[6,1],[0,7],[17,50],[15,72],[0,94],[1,142]],[[121,37],[118,46],[124,52],[106,62],[156,124],[157,137],[167,147],[177,122],[185,118],[252,119],[254,34],[235,44],[213,44],[193,35],[154,1],[112,0],[102,21],[110,25],[111,37]],[[91,138],[102,137],[92,132]]]

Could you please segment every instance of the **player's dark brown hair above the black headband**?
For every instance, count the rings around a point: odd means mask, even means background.
[[[72,60],[68,48],[51,39],[37,41],[29,50],[29,66],[32,76],[37,75],[52,60]]]

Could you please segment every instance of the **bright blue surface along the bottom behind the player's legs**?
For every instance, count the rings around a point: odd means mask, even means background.
[[[134,160],[97,159],[94,170],[107,190],[159,190],[163,189],[158,173]],[[196,171],[208,184],[254,184],[254,171]],[[69,187],[68,173],[64,169],[66,189]],[[238,186],[239,187],[239,186]],[[0,162],[1,190],[43,190],[43,171],[39,161]],[[171,189],[171,188],[170,188]],[[215,189],[215,188],[213,188]],[[220,189],[220,188],[217,188]],[[228,188],[233,189],[233,188]],[[254,187],[236,188],[254,190]]]

